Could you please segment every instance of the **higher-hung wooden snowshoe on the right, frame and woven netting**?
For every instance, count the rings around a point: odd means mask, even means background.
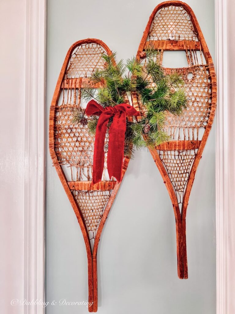
[[[171,140],[150,149],[174,209],[178,276],[187,279],[186,210],[215,115],[216,73],[196,16],[186,3],[166,1],[154,9],[144,30],[137,58],[143,56],[140,53],[149,45],[159,51],[160,64],[164,51],[185,51],[188,61],[186,68],[163,68],[166,74],[176,72],[182,75],[189,101],[182,116],[166,115],[165,132]],[[192,74],[191,79],[188,78],[189,73]],[[132,101],[143,115],[144,108],[138,96],[133,95]]]

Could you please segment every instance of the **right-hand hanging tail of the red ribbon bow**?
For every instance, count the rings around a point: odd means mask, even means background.
[[[120,111],[114,115],[113,122],[109,128],[109,144],[107,155],[108,174],[121,181],[123,158],[124,158],[124,141],[126,132],[126,113]]]

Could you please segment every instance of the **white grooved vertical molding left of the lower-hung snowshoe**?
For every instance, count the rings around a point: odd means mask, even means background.
[[[25,0],[24,299],[44,300],[46,1]],[[42,306],[24,313],[43,314]]]

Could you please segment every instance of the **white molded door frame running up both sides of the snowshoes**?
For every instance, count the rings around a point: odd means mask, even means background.
[[[25,3],[24,299],[43,300],[46,0],[25,0]],[[235,19],[231,13],[234,12],[232,5],[234,5],[232,0],[215,0],[218,79],[216,112],[217,314],[235,313],[235,250],[234,232],[232,233],[232,226],[235,225],[235,211],[233,211],[235,128],[232,124],[235,119],[232,109],[235,86],[230,88],[229,85],[234,81],[235,69],[233,65],[234,71],[229,71],[233,60],[228,50],[228,45],[233,45],[233,51],[235,51],[235,44],[232,44],[232,41],[235,42],[232,34],[235,29]],[[228,37],[229,34],[233,35],[233,39],[231,36]],[[233,147],[229,147],[232,143]],[[43,314],[44,309],[41,306],[37,308],[25,306],[24,312]]]

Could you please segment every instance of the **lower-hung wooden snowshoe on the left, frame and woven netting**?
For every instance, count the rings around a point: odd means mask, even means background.
[[[94,136],[89,134],[87,125],[71,122],[73,111],[82,106],[81,88],[89,83],[89,76],[96,68],[104,68],[102,53],[110,55],[112,52],[98,39],[77,41],[70,47],[56,84],[49,121],[50,155],[76,214],[86,245],[88,301],[89,304],[93,302],[89,312],[96,312],[98,306],[98,243],[129,162],[125,157],[119,183],[107,180],[106,154],[103,179],[92,184]],[[93,87],[97,89],[100,84]]]

